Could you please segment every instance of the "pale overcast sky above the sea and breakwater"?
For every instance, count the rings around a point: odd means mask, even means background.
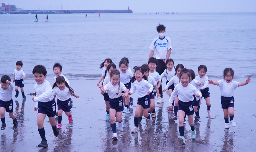
[[[256,0],[1,0],[24,9],[130,9],[137,12],[254,12]]]

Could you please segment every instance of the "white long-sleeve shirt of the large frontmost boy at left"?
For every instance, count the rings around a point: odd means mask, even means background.
[[[36,92],[36,97],[34,97],[36,108],[38,108],[38,102],[49,102],[53,100],[52,87],[49,81],[44,80],[41,84],[36,83],[34,89]]]

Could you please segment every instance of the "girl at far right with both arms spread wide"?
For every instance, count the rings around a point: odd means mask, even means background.
[[[223,71],[223,76],[224,79],[219,80],[219,81],[212,81],[208,80],[209,84],[214,84],[220,87],[221,91],[221,108],[223,109],[224,112],[224,120],[225,120],[225,128],[229,128],[228,125],[228,114],[230,118],[230,123],[232,124],[233,127],[236,126],[234,119],[234,102],[235,99],[233,97],[234,90],[237,87],[240,86],[245,86],[251,81],[251,78],[248,77],[245,82],[237,82],[233,81],[233,76],[234,76],[234,71],[232,68],[225,68]]]

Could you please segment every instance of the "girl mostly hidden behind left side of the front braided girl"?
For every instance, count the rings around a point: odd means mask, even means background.
[[[110,78],[109,78],[109,76],[107,76],[107,73],[110,73],[112,70],[114,70],[116,68],[117,68],[117,66],[115,66],[114,63],[110,63],[107,66],[107,70],[105,71],[105,76],[104,76],[104,79],[103,79],[103,82],[102,82],[101,86],[105,86],[106,84],[108,84],[110,82]],[[103,97],[104,97],[105,104],[106,104],[106,116],[105,116],[105,119],[107,121],[109,121],[110,114],[109,114],[109,94],[108,94],[108,92],[105,92],[103,94]]]

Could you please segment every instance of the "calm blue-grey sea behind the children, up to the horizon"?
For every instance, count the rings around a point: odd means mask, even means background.
[[[45,65],[54,76],[53,64],[63,65],[63,74],[74,79],[95,78],[100,63],[111,58],[118,65],[128,57],[130,67],[147,62],[149,46],[164,24],[172,41],[175,65],[197,71],[207,66],[207,75],[221,77],[227,67],[235,76],[256,77],[256,13],[178,14],[35,14],[0,15],[0,75],[13,74],[17,60],[32,77],[32,68]],[[197,73],[197,72],[196,72]]]

